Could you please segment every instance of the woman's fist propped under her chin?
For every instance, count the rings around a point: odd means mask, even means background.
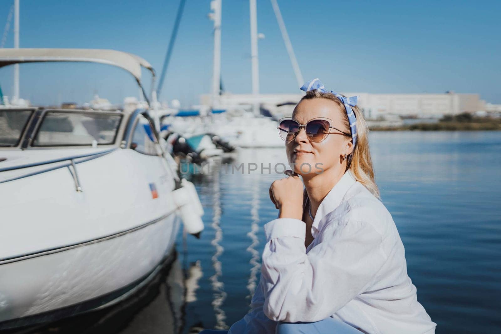
[[[280,210],[279,218],[303,218],[303,181],[292,170],[287,178],[276,180],[270,186],[270,199]]]

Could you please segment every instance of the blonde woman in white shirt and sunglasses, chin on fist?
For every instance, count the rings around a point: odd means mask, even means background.
[[[229,332],[434,333],[379,201],[357,98],[318,79],[301,89],[279,126],[293,170],[270,187],[280,211],[265,225],[261,280]]]

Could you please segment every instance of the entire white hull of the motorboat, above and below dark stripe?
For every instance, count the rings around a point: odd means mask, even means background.
[[[116,149],[3,172],[16,174],[0,183],[0,329],[99,307],[88,301],[119,298],[154,270],[181,221],[161,159]]]

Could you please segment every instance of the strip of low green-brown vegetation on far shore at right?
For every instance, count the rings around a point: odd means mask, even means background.
[[[399,126],[371,126],[371,131],[496,131],[501,130],[501,118],[476,117],[470,113],[446,115],[436,123],[414,123]]]

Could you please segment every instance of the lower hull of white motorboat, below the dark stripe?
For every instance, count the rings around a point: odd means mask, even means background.
[[[103,296],[72,313],[119,300],[172,250],[179,224],[172,212],[129,231],[0,265],[0,329],[53,320],[50,312]]]

